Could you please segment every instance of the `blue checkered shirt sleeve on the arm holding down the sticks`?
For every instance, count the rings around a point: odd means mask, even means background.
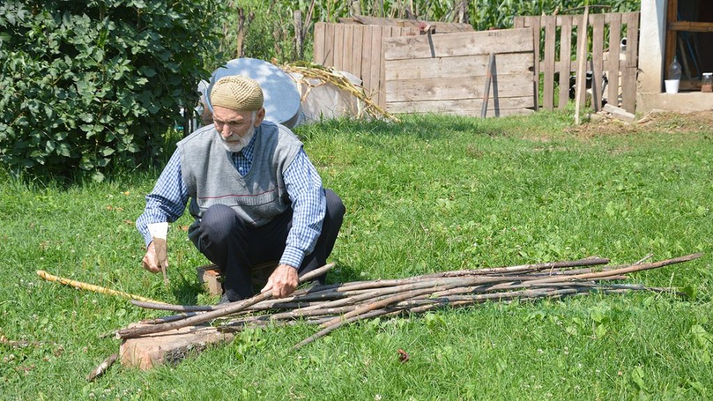
[[[287,244],[279,263],[299,268],[305,255],[309,255],[322,233],[322,222],[327,210],[327,198],[322,188],[322,178],[300,150],[283,173],[289,200],[292,201],[292,228],[287,234]]]

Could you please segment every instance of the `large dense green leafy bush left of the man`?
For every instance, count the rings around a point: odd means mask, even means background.
[[[101,180],[151,160],[218,41],[217,0],[0,4],[0,162]]]

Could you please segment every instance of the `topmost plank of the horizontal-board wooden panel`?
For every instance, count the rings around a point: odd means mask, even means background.
[[[491,49],[498,53],[531,51],[533,49],[530,29],[502,29],[459,34],[432,35],[436,57],[488,54]],[[429,59],[431,46],[429,36],[400,36],[384,40],[384,57],[387,60]]]

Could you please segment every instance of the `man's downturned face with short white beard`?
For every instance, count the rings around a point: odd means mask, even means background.
[[[255,127],[260,126],[264,116],[264,108],[254,112],[213,106],[215,130],[220,134],[223,146],[230,152],[239,152],[250,143]]]

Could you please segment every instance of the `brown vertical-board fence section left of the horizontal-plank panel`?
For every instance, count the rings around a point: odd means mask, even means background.
[[[357,24],[314,25],[314,62],[334,67],[359,77],[364,91],[381,108],[386,105],[384,52],[381,42],[391,36],[418,35],[411,26],[373,26]]]

